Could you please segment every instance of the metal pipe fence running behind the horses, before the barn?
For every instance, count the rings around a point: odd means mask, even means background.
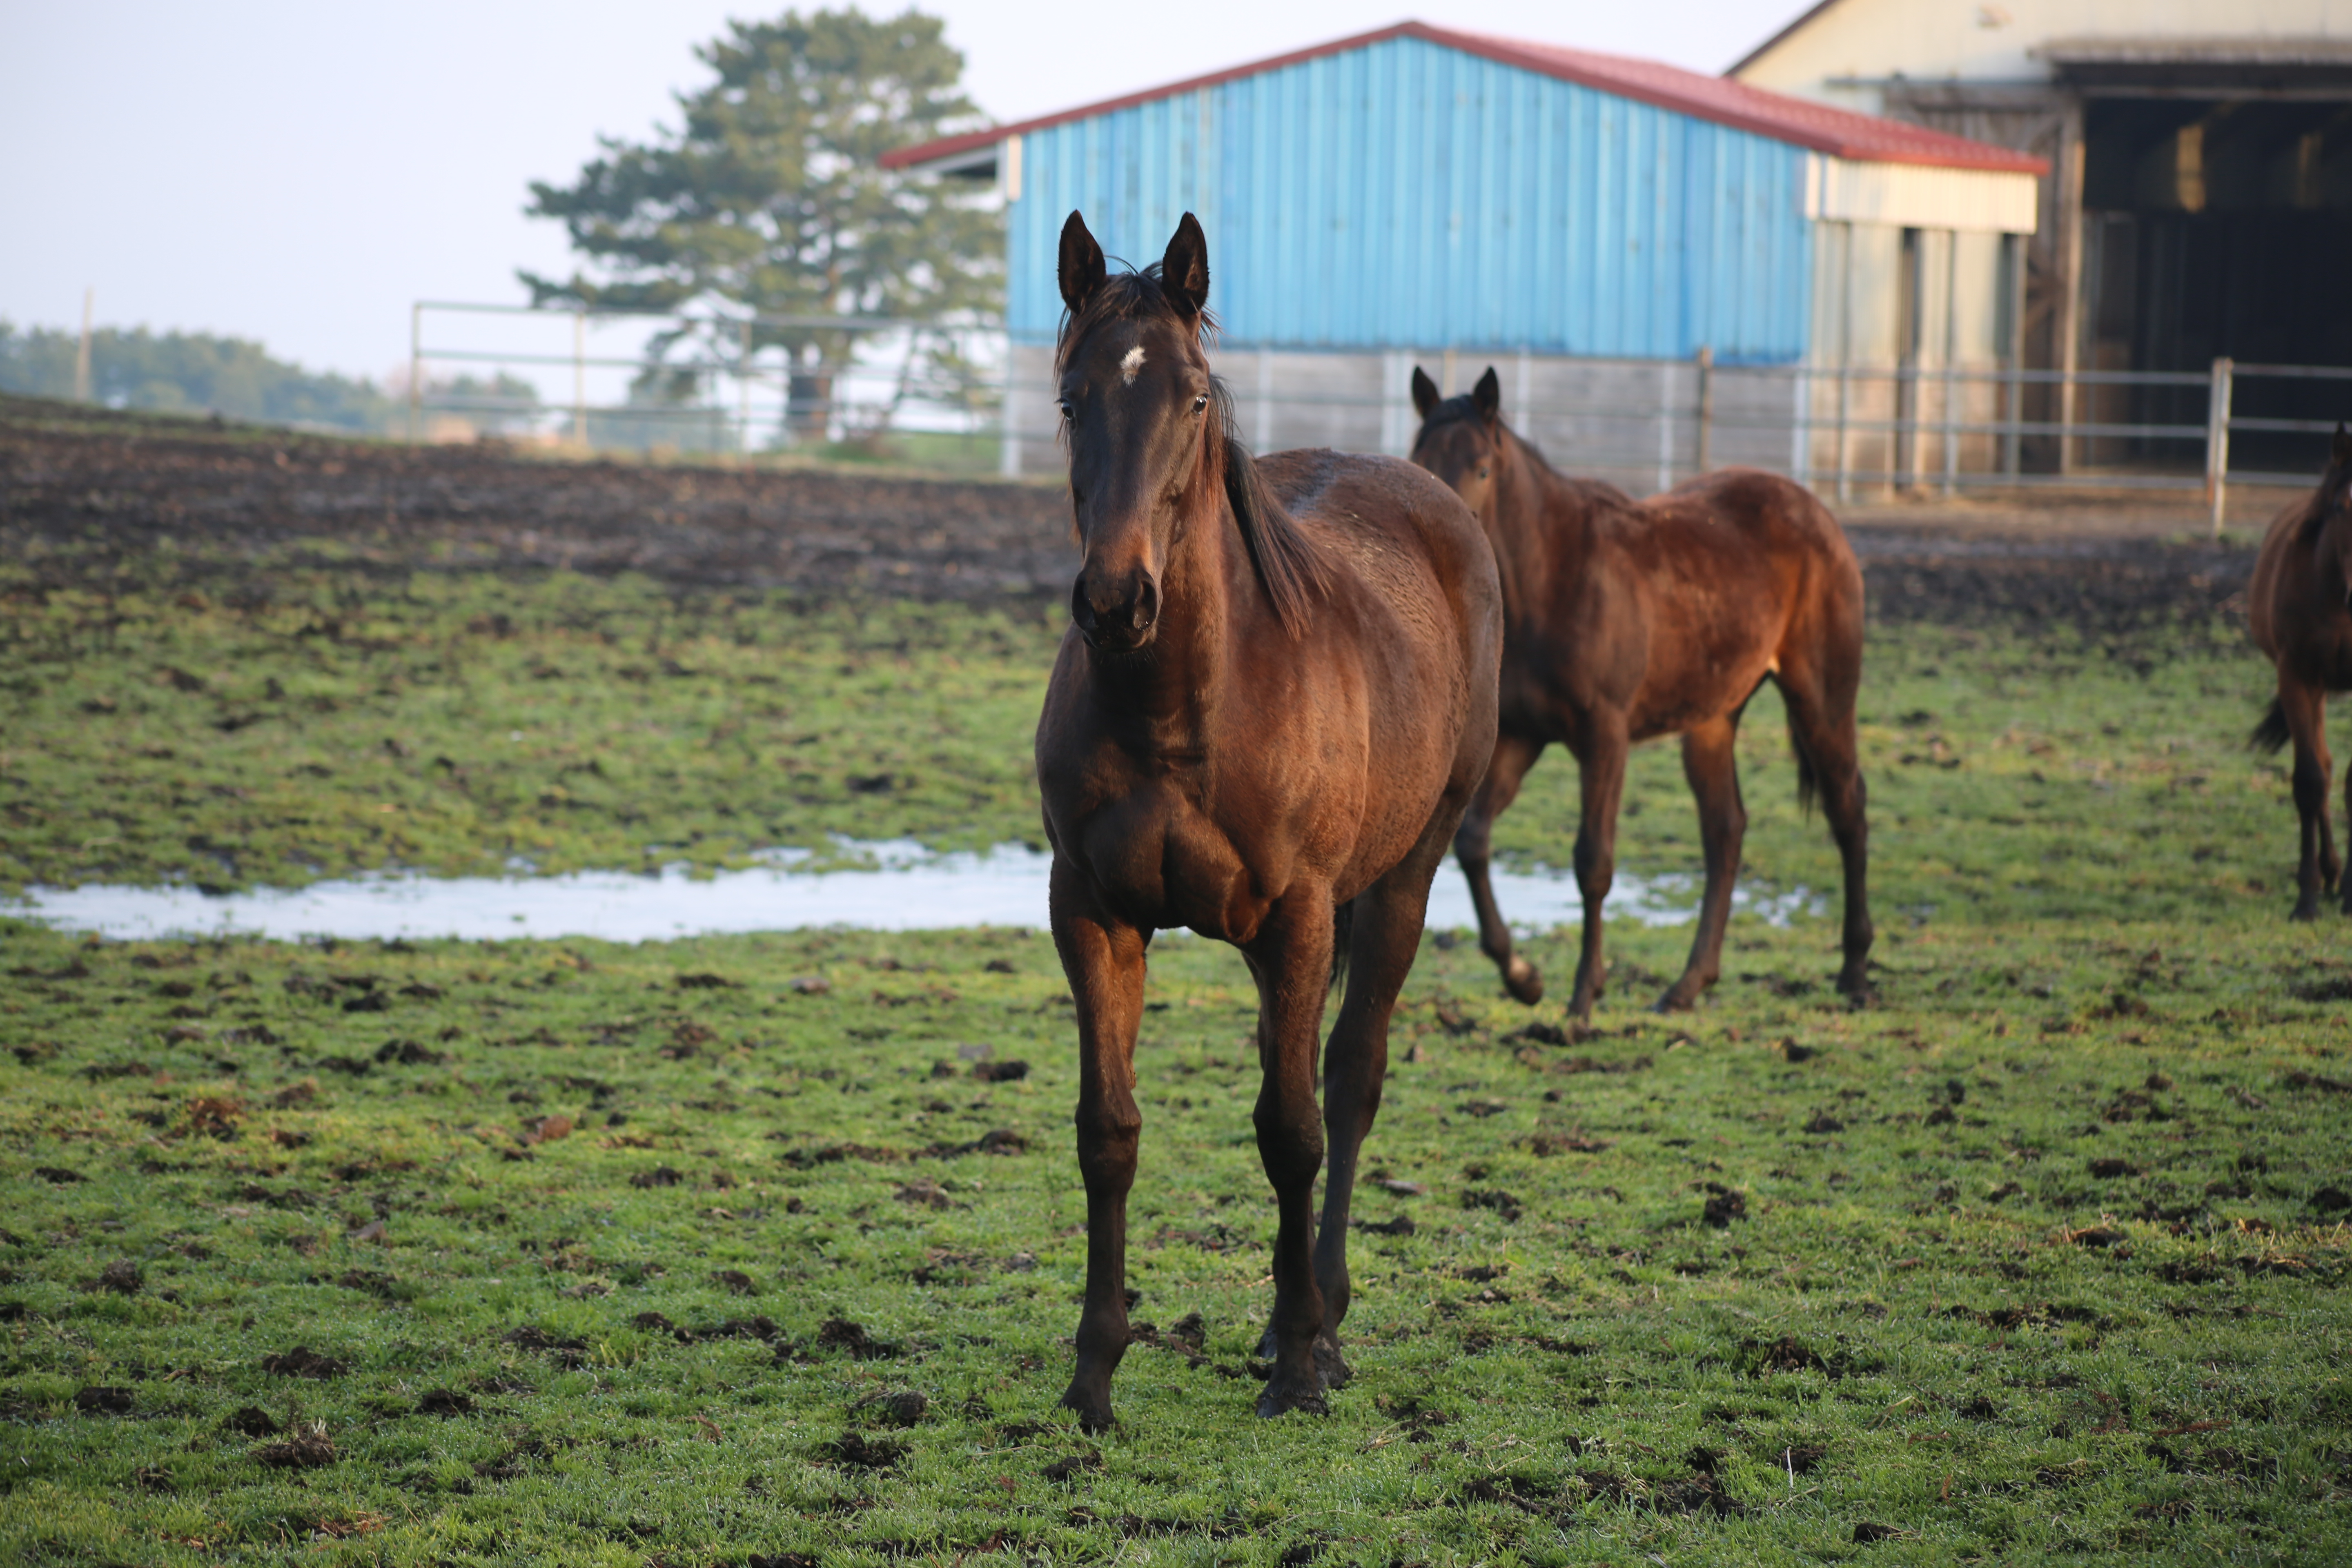
[[[428,320],[522,317],[539,336],[487,346]],[[569,327],[569,341],[550,341]],[[614,329],[649,334],[626,350]],[[564,440],[750,454],[870,442],[960,442],[960,468],[1058,468],[1051,346],[981,324],[842,315],[652,315],[419,301],[412,313],[409,440],[437,418]],[[2352,418],[2352,367],[2239,364],[2206,371],[2013,364],[1740,364],[1501,350],[1319,350],[1216,343],[1254,447],[1329,444],[1404,454],[1418,428],[1414,364],[1454,383],[1503,374],[1503,414],[1573,473],[1668,489],[1717,463],[1773,468],[1853,501],[1860,489],[2204,491],[2220,531],[2230,484],[2310,484],[2317,470],[2232,468],[2232,435],[2326,435]],[[496,369],[508,381],[433,381]],[[510,371],[529,371],[529,395]],[[564,378],[562,371],[569,371]],[[562,395],[548,395],[555,378]],[[626,395],[593,397],[626,386]],[[2326,418],[2249,414],[2249,383],[2336,383]],[[654,388],[654,395],[647,395]],[[1451,386],[1449,386],[1451,390]]]

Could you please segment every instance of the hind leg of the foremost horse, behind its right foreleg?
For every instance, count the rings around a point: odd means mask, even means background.
[[[1388,1077],[1388,1020],[1397,992],[1421,952],[1421,924],[1430,905],[1430,877],[1446,851],[1451,811],[1439,811],[1421,844],[1397,867],[1355,900],[1348,945],[1348,994],[1324,1046],[1324,1175],[1322,1227],[1315,1232],[1315,1284],[1324,1298],[1324,1340],[1317,1359],[1336,1385],[1348,1380],[1338,1356],[1338,1326],[1348,1316],[1348,1213],[1355,1201],[1357,1157],[1381,1114]]]

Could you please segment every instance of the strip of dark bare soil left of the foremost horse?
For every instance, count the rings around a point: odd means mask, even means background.
[[[169,538],[188,585],[235,574],[235,557],[315,550],[358,571],[990,599],[1061,592],[1068,536],[1061,487],[560,463],[0,397],[0,550],[85,581],[111,564],[146,576]]]

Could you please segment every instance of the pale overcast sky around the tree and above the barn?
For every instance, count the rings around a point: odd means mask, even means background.
[[[781,9],[781,7],[779,7]],[[882,7],[870,7],[882,9]],[[1395,0],[931,0],[971,96],[1016,120],[1411,16]],[[1451,0],[1428,21],[1722,71],[1799,0]],[[409,301],[520,303],[569,270],[527,183],[644,139],[706,80],[722,0],[0,5],[0,317],[261,339],[383,376]]]

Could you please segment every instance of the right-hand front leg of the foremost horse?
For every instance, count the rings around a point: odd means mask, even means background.
[[[1315,1361],[1324,1298],[1315,1284],[1315,1175],[1322,1126],[1315,1114],[1315,1046],[1331,990],[1331,891],[1289,893],[1249,945],[1258,976],[1258,1159],[1275,1185],[1275,1375],[1258,1415],[1327,1413],[1327,1380]]]

